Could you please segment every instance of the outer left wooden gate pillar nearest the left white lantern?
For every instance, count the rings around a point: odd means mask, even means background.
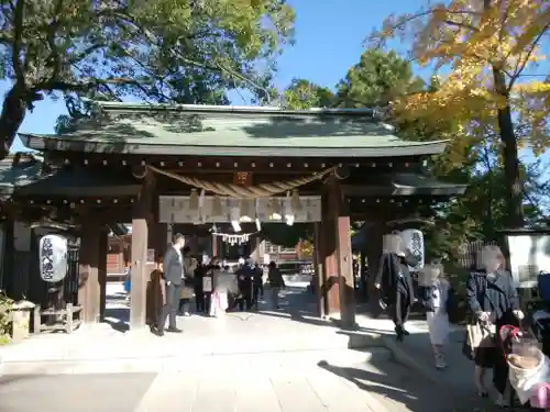
[[[78,304],[82,307],[82,323],[88,325],[99,322],[101,294],[99,287],[100,237],[101,227],[95,222],[84,226],[80,233]]]

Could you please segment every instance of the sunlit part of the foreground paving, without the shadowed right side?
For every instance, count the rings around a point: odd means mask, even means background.
[[[378,356],[388,357],[384,352]],[[8,376],[0,378],[1,410],[384,412],[367,391],[318,366],[343,367],[369,358],[353,350],[321,350],[212,356],[184,371],[160,374]]]

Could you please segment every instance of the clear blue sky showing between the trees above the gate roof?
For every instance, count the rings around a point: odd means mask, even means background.
[[[289,0],[296,10],[296,45],[288,47],[278,60],[276,83],[287,86],[293,78],[306,78],[316,83],[333,87],[353,64],[358,63],[365,36],[380,27],[391,13],[414,12],[425,0]],[[0,96],[7,90],[0,81]],[[233,104],[244,104],[232,93]],[[21,132],[53,133],[55,120],[65,113],[62,100],[37,102],[25,118]],[[18,140],[12,151],[22,151]]]

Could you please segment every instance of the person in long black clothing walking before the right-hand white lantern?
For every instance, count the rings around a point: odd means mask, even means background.
[[[415,302],[415,287],[409,266],[418,265],[418,258],[408,249],[402,252],[403,241],[399,235],[391,236],[393,244],[382,255],[374,285],[381,290],[384,304],[389,307],[397,341],[402,342],[409,334],[405,323]]]

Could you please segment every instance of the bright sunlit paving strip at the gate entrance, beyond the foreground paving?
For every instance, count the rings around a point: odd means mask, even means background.
[[[0,348],[0,374],[79,374],[160,371],[183,367],[182,354],[194,357],[223,354],[345,349],[350,337],[328,321],[314,316],[312,296],[288,288],[283,309],[268,302],[257,313],[230,313],[224,319],[179,318],[182,334],[123,333],[129,308],[110,293],[110,323],[73,335],[44,334]],[[359,344],[355,342],[355,346]]]

